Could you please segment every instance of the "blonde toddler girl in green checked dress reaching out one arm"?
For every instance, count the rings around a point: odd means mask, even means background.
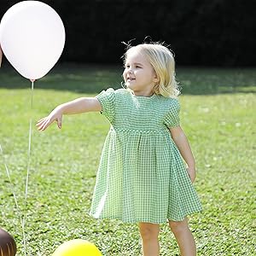
[[[195,160],[179,125],[172,52],[139,44],[125,52],[126,89],[103,90],[56,107],[38,121],[44,131],[63,114],[101,112],[111,128],[102,149],[90,214],[137,223],[143,256],[158,256],[160,224],[169,223],[181,255],[196,254],[187,215],[201,211],[193,187]],[[186,162],[184,165],[183,160]]]

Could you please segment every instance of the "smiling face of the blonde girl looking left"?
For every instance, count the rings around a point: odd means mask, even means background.
[[[154,85],[158,82],[154,68],[136,49],[130,49],[127,53],[123,77],[125,85],[136,96],[152,96]]]

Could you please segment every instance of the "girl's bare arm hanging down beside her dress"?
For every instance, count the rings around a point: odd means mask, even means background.
[[[177,145],[183,160],[188,165],[188,173],[192,183],[195,181],[195,159],[189,146],[189,141],[180,126],[170,128],[172,139]]]

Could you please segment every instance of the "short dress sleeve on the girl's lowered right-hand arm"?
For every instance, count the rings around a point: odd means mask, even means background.
[[[177,99],[172,99],[169,111],[166,113],[164,124],[168,128],[173,128],[179,125],[179,110],[180,105]]]

